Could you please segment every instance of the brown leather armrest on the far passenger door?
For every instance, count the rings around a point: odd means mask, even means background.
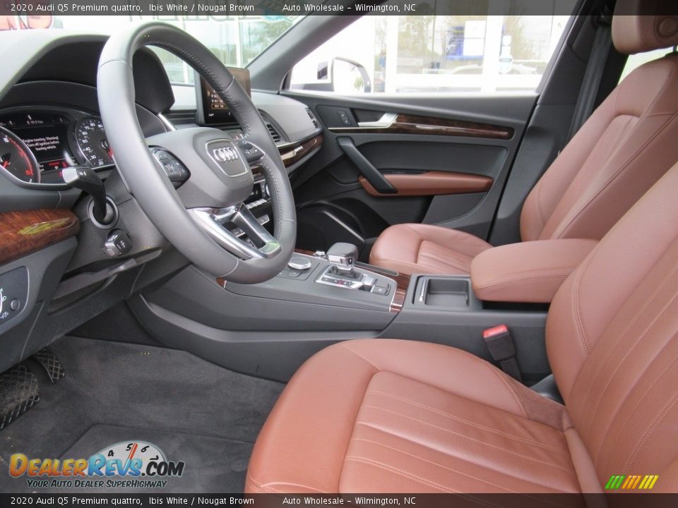
[[[489,176],[453,173],[448,171],[427,171],[425,173],[391,173],[384,174],[396,193],[382,194],[377,191],[364,176],[358,181],[369,195],[383,198],[401,196],[427,196],[444,194],[465,194],[487,192],[494,180]]]

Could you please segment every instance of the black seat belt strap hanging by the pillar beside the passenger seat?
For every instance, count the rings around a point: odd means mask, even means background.
[[[593,113],[595,99],[598,95],[598,90],[600,90],[605,63],[607,62],[609,49],[612,47],[612,16],[607,14],[607,8],[605,11],[606,13],[601,14],[597,20],[593,47],[588,57],[588,63],[586,63],[579,97],[574,107],[570,130],[567,134],[567,143],[569,143]]]

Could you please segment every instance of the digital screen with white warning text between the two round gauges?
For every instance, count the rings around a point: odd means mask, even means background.
[[[35,155],[41,173],[73,166],[66,132],[65,124],[14,128],[14,133]]]

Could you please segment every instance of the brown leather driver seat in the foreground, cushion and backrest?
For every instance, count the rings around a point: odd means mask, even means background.
[[[340,342],[283,391],[246,492],[602,492],[617,475],[678,491],[677,188],[678,164],[556,294],[564,405],[459,349]]]

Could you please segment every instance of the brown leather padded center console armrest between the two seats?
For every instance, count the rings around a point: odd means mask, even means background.
[[[561,238],[485,250],[471,262],[473,292],[483,301],[550,303],[596,244]]]

